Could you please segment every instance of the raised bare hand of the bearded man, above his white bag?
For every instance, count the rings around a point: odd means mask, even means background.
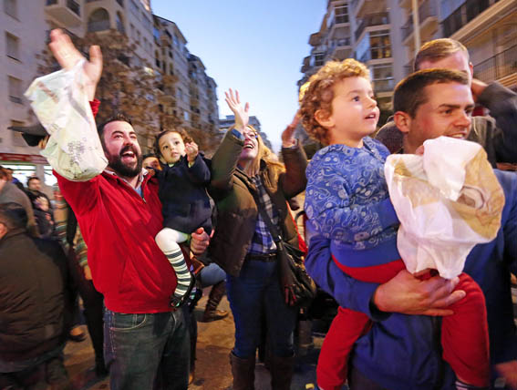
[[[52,54],[56,57],[57,62],[63,69],[71,69],[76,64],[85,59],[85,57],[72,44],[72,40],[67,34],[60,29],[50,32],[50,43],[48,44]],[[95,97],[95,88],[102,74],[102,53],[97,45],[89,48],[89,61],[83,67],[84,74],[87,78],[88,98],[93,100]]]

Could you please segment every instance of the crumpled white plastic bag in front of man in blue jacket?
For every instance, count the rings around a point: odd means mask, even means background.
[[[429,268],[452,279],[476,244],[496,237],[504,193],[480,145],[429,139],[423,156],[391,155],[384,172],[408,272]]]

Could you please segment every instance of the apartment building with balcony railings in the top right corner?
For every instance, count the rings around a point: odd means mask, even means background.
[[[399,0],[406,22],[403,45],[415,56],[410,0]],[[419,0],[420,43],[450,37],[465,45],[474,77],[517,90],[517,0]],[[412,62],[406,72],[412,70]]]

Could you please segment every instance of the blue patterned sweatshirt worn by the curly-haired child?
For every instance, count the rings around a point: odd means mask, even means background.
[[[306,169],[309,229],[331,240],[331,251],[349,267],[400,259],[397,214],[384,177],[388,149],[375,139],[363,148],[330,145]]]

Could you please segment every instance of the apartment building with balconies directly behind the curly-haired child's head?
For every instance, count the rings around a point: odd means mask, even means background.
[[[407,62],[397,27],[402,15],[390,0],[327,0],[320,29],[309,37],[311,53],[304,58],[298,86],[326,61],[354,57],[368,67],[381,115],[387,118],[393,88],[404,77]],[[298,133],[303,137],[301,129]]]

